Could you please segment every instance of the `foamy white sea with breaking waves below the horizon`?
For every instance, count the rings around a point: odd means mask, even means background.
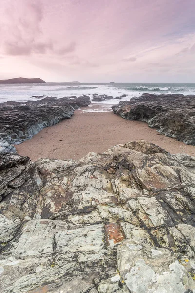
[[[130,100],[139,97],[143,93],[153,94],[184,94],[195,95],[195,83],[46,83],[46,84],[0,84],[0,102],[38,100],[33,96],[52,96],[62,98],[65,96],[88,95],[92,99],[93,94],[107,94],[109,96],[121,96],[122,100]],[[89,108],[88,111],[110,111],[111,105],[118,104],[122,100],[105,100],[98,105],[106,104],[100,109]],[[97,102],[92,102],[97,104]]]

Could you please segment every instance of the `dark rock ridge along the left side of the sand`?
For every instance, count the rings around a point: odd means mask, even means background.
[[[71,118],[75,109],[90,103],[88,96],[0,103],[0,153],[15,152],[13,144],[20,144],[43,128]]]

